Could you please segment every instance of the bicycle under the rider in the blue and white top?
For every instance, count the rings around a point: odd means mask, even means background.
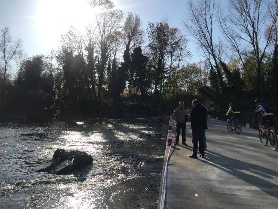
[[[277,144],[278,144],[278,139],[276,133],[271,130],[271,121],[268,120],[267,123],[263,126],[263,130],[260,128],[259,129],[259,137],[260,141],[263,145],[267,145],[269,142],[271,148],[276,151],[277,150]]]

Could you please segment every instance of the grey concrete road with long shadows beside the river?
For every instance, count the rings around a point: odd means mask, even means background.
[[[278,208],[278,151],[261,144],[258,130],[242,127],[238,135],[226,124],[209,119],[206,158],[191,159],[187,123],[188,146],[181,145],[180,134],[171,151],[164,208]]]

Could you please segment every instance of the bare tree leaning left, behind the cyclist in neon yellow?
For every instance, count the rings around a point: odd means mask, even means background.
[[[190,35],[196,40],[198,46],[209,60],[211,67],[215,67],[220,85],[220,94],[223,95],[223,76],[218,66],[218,58],[215,51],[213,29],[215,26],[215,12],[218,4],[215,0],[190,0],[189,13],[183,24]]]

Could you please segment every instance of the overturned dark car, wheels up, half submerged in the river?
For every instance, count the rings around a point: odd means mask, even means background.
[[[51,160],[33,167],[32,170],[36,172],[44,171],[52,174],[66,174],[73,170],[83,168],[86,165],[90,165],[92,162],[92,156],[88,155],[86,152],[66,152],[64,149],[57,149]]]

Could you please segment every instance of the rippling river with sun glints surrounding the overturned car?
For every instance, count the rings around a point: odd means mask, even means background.
[[[150,120],[0,123],[0,208],[157,208],[167,126]],[[68,175],[34,172],[54,151],[93,164]]]

